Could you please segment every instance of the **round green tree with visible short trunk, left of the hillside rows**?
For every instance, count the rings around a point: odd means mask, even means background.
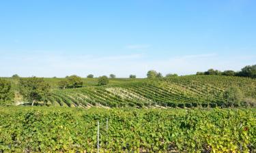
[[[23,99],[34,105],[39,101],[46,101],[50,95],[50,85],[43,78],[20,78],[19,92]]]

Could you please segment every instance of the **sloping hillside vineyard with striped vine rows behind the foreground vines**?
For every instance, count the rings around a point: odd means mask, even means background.
[[[160,80],[137,80],[54,89],[48,103],[68,107],[216,107],[223,92],[237,86],[245,97],[256,99],[256,80],[217,75],[187,75]]]

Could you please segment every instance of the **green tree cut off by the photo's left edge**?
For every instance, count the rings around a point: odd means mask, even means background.
[[[11,103],[13,99],[14,99],[14,92],[12,92],[11,82],[0,78],[0,105]]]

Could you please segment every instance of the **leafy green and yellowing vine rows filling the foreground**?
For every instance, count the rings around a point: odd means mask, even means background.
[[[256,152],[256,109],[0,107],[0,152],[97,152],[97,140],[99,152]]]

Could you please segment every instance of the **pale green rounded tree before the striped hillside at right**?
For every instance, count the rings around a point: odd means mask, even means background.
[[[225,90],[224,98],[226,105],[233,107],[234,105],[240,105],[240,102],[243,99],[243,95],[238,87],[231,86]]]

